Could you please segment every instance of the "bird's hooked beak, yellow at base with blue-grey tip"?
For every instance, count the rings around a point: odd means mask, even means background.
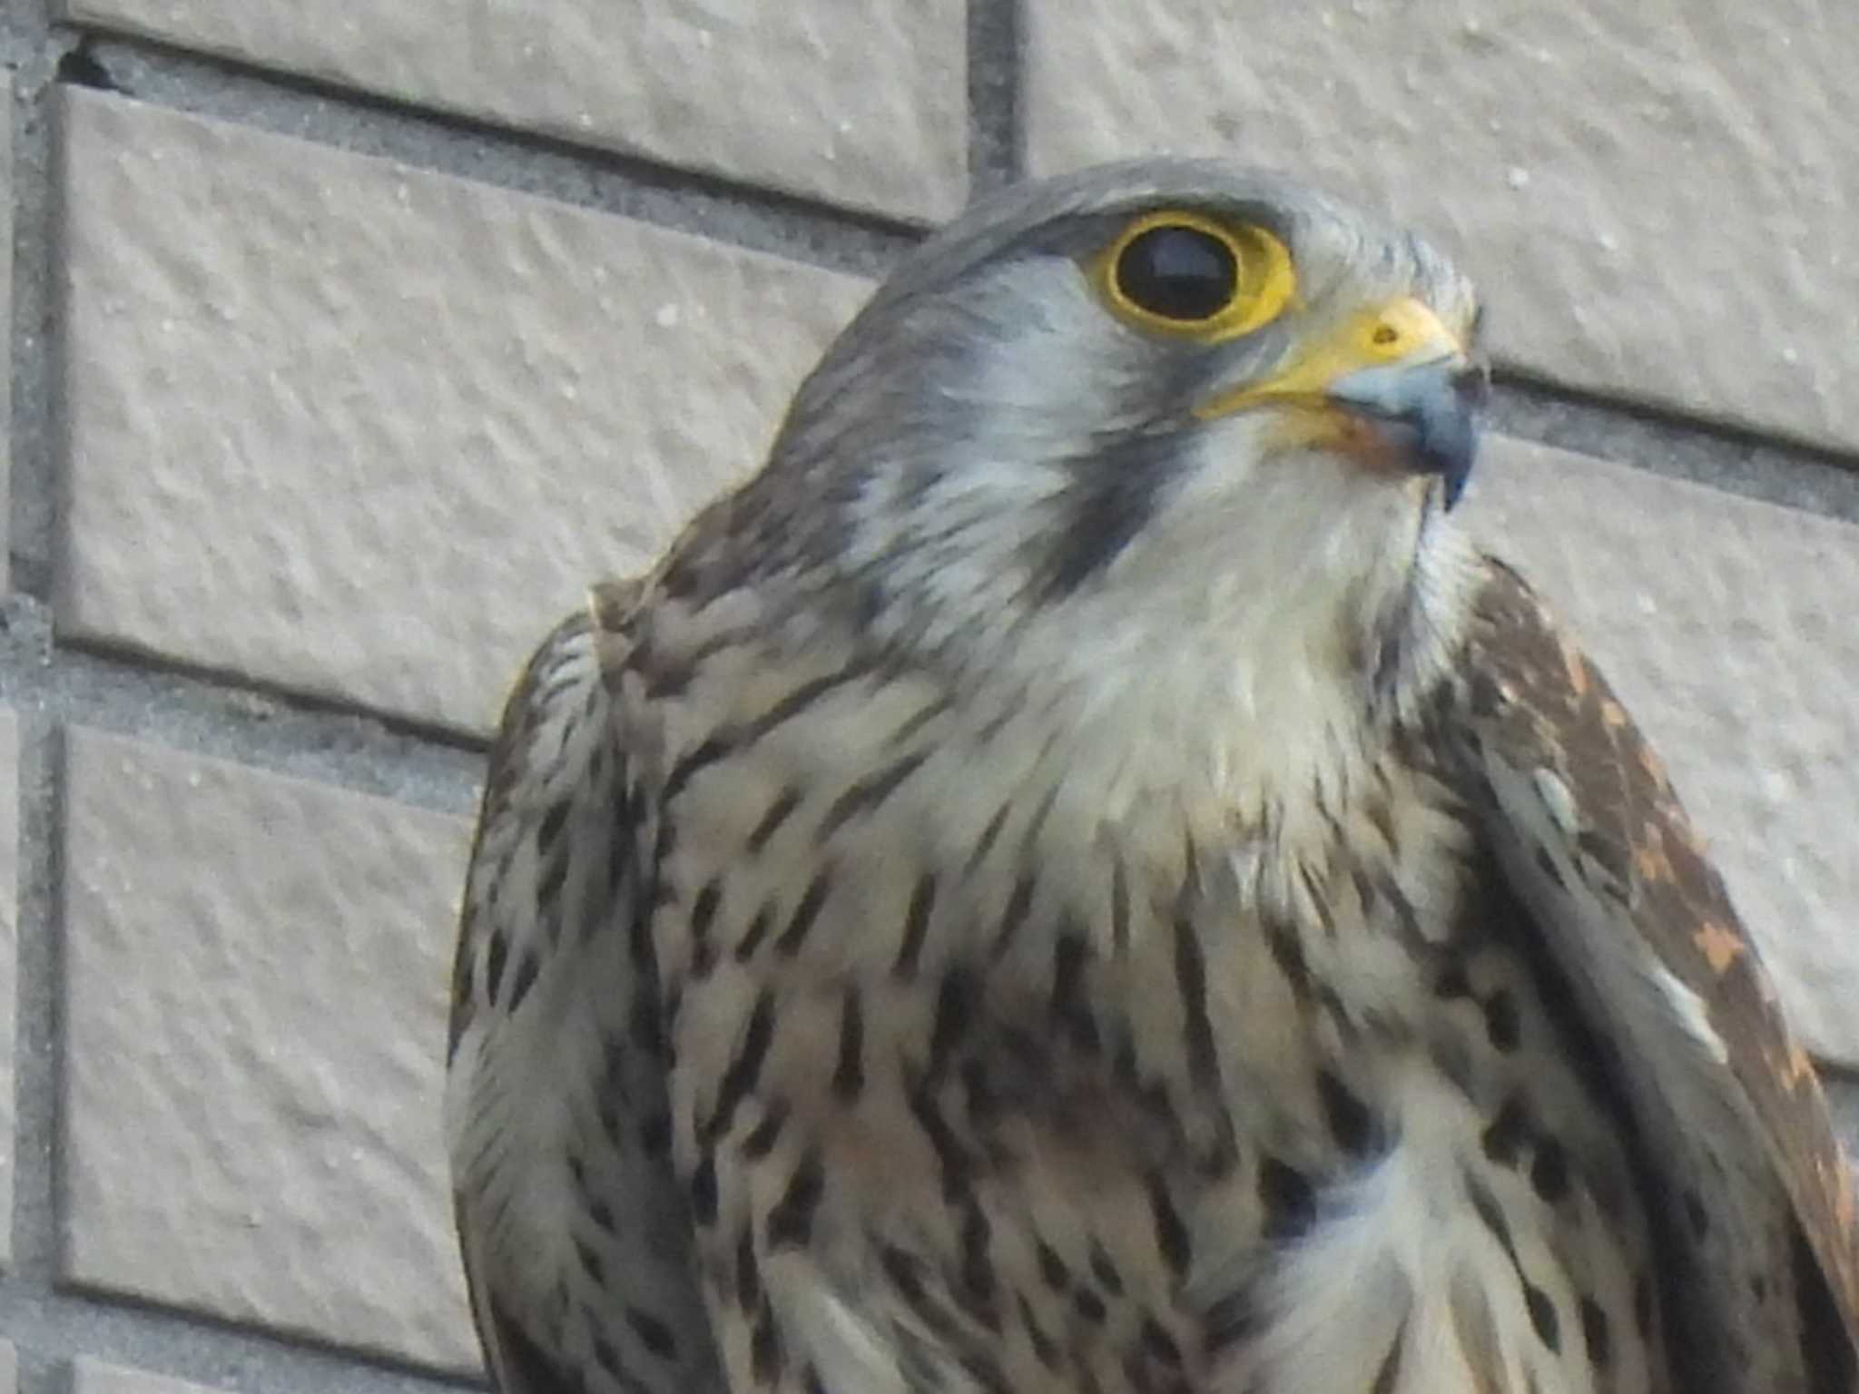
[[[1201,420],[1283,403],[1318,409],[1288,429],[1368,465],[1439,476],[1459,502],[1478,455],[1489,374],[1426,305],[1398,299],[1351,316],[1275,375],[1195,409]]]

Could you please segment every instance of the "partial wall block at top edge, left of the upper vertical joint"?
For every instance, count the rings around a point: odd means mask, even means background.
[[[69,0],[84,22],[400,100],[946,217],[967,177],[961,0]]]

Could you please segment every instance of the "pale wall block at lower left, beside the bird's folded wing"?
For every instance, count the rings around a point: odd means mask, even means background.
[[[63,1277],[476,1368],[441,1141],[467,825],[82,727]]]

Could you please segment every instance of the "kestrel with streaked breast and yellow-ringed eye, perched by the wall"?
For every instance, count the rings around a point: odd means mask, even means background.
[[[508,1394],[1829,1394],[1853,1197],[1660,764],[1452,517],[1470,283],[991,197],[504,712],[448,1138]]]

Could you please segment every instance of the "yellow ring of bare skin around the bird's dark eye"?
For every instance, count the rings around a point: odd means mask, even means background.
[[[1298,288],[1290,251],[1262,227],[1188,210],[1130,221],[1091,279],[1128,323],[1208,344],[1270,322]]]

